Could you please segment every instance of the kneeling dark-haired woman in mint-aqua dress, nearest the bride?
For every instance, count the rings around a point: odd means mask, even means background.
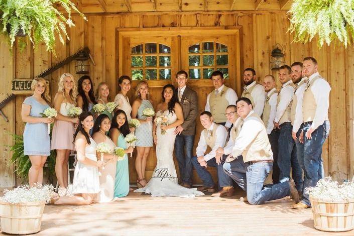
[[[124,110],[114,112],[109,137],[117,145],[125,149],[126,155],[121,161],[117,161],[114,182],[114,197],[125,197],[129,193],[129,163],[128,153],[133,152],[133,147],[127,148],[125,137],[130,133],[127,114]]]

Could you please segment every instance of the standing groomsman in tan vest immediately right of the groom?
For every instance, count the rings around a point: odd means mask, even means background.
[[[212,114],[215,123],[225,126],[228,130],[232,124],[227,122],[224,113],[228,105],[236,104],[237,94],[232,88],[224,85],[224,75],[221,71],[212,72],[210,79],[214,90],[206,97],[205,110]]]

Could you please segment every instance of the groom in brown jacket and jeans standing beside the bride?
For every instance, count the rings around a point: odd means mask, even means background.
[[[178,89],[176,93],[179,103],[182,106],[184,122],[176,127],[175,134],[175,156],[178,161],[179,173],[181,175],[182,186],[190,188],[192,186],[193,174],[193,146],[195,136],[195,119],[198,113],[197,93],[186,85],[188,74],[184,70],[177,72],[176,81]]]

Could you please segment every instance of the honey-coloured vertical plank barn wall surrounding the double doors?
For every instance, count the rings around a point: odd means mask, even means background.
[[[270,70],[270,52],[278,43],[286,54],[287,64],[313,56],[319,62],[320,74],[328,80],[330,95],[329,120],[331,131],[323,147],[326,175],[337,179],[351,178],[353,174],[353,94],[354,49],[344,49],[334,43],[318,50],[316,42],[292,43],[287,33],[289,21],[286,12],[231,12],[231,13],[149,13],[122,15],[87,15],[87,22],[75,16],[76,27],[68,30],[70,41],[64,45],[57,42],[57,57],[46,52],[40,45],[36,50],[28,47],[24,52],[16,49],[12,54],[6,43],[0,44],[0,100],[10,93],[12,78],[33,78],[41,71],[64,59],[79,48],[88,46],[96,66],[91,64],[90,76],[95,85],[105,81],[115,94],[117,77],[116,29],[148,27],[204,27],[242,26],[242,66],[254,67],[261,80]],[[1,42],[4,40],[0,39]],[[50,80],[51,95],[57,91],[59,76],[64,72],[75,74],[74,63],[66,65],[47,77]],[[78,78],[77,75],[75,75]],[[278,82],[279,88],[279,82]],[[238,94],[241,95],[241,94]],[[8,132],[22,134],[21,104],[25,96],[17,96],[3,112],[10,118],[6,123],[0,117],[1,144],[11,144]],[[7,166],[11,153],[9,148],[0,146],[0,187],[15,185],[13,169]]]

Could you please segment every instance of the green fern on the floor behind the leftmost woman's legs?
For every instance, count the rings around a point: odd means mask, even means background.
[[[10,134],[13,138],[14,145],[10,146],[13,152],[12,157],[10,159],[9,165],[15,167],[16,176],[22,182],[28,182],[28,172],[31,168],[30,158],[24,154],[24,139],[22,135]],[[56,152],[52,150],[50,152],[50,156],[47,158],[48,168],[44,168],[44,171],[48,172],[48,176],[55,175],[55,158]]]

